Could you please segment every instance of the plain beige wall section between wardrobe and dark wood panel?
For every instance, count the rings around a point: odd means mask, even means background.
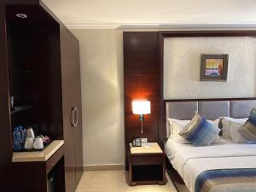
[[[80,42],[84,166],[125,164],[123,36],[72,30]]]

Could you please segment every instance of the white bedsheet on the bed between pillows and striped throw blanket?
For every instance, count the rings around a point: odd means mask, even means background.
[[[168,139],[166,155],[188,189],[193,192],[196,177],[204,171],[228,168],[256,168],[256,145],[215,144],[194,147]]]

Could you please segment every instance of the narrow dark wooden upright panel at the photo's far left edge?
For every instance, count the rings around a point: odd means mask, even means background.
[[[9,115],[9,68],[7,53],[7,34],[5,8],[0,3],[0,185],[1,190],[8,191],[9,163],[12,157],[11,122]]]

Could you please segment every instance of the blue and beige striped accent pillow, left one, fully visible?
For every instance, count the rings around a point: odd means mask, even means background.
[[[219,131],[218,127],[209,123],[199,113],[196,113],[189,124],[178,134],[194,146],[207,146],[218,137]]]

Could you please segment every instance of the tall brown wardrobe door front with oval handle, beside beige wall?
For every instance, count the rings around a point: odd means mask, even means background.
[[[79,41],[65,28],[61,28],[61,73],[66,192],[73,192],[82,176],[83,165]],[[73,108],[79,111],[76,127],[71,125]]]

